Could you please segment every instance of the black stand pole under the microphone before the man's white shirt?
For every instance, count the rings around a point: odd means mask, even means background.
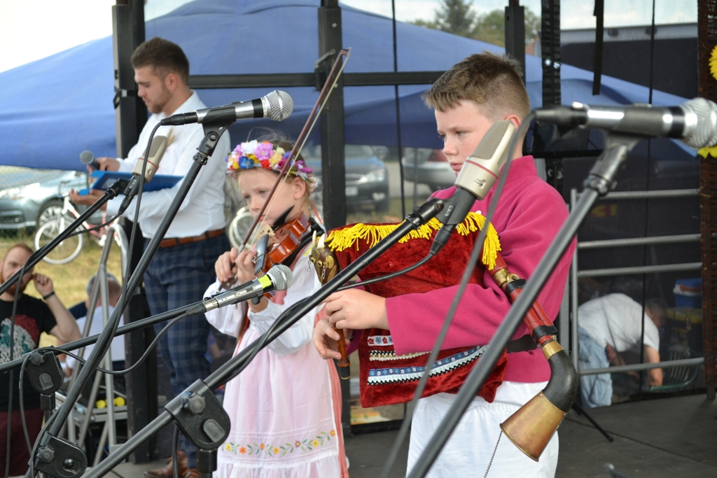
[[[209,160],[209,156],[212,156],[219,142],[219,138],[224,131],[227,130],[227,127],[234,123],[234,120],[235,118],[219,118],[215,123],[204,124],[204,139],[201,141],[199,148],[197,148],[197,153],[194,155],[194,163],[192,163],[184,180],[181,182],[174,199],[172,199],[169,208],[157,228],[156,234],[148,244],[132,277],[130,277],[126,292],[120,297],[117,307],[113,310],[108,326],[105,327],[100,334],[97,345],[92,349],[85,366],[82,367],[80,373],[77,375],[75,384],[67,392],[65,402],[62,403],[62,406],[60,406],[55,413],[52,424],[49,424],[47,432],[39,437],[37,454],[34,457],[30,457],[33,461],[33,466],[30,467],[25,475],[27,478],[33,478],[31,476],[33,469],[51,474],[57,478],[78,478],[85,472],[87,468],[87,457],[85,457],[82,449],[76,444],[60,439],[58,434],[60,434],[60,430],[65,424],[65,421],[67,421],[67,417],[70,415],[70,411],[75,406],[77,399],[80,398],[82,387],[85,386],[90,375],[95,373],[98,365],[100,365],[100,361],[103,360],[105,353],[107,353],[110,343],[114,338],[115,331],[118,328],[122,312],[128,303],[128,297],[133,294],[136,287],[140,284],[144,272],[149,266],[149,262],[159,248],[159,243],[164,238],[164,234],[166,234],[166,231],[169,229],[169,225],[171,221],[174,220],[174,216],[176,216],[177,211],[179,211],[179,207],[182,202],[184,202],[187,193],[189,193],[189,188],[194,184],[199,170]]]

